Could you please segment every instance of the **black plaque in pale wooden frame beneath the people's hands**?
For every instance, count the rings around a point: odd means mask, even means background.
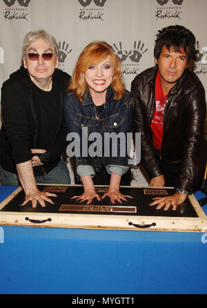
[[[83,193],[83,186],[57,186],[54,185],[54,190],[52,191],[52,185],[38,185],[38,189],[40,191],[46,191],[47,187],[50,192],[54,192],[57,197],[49,197],[54,204],[50,204],[46,202],[46,207],[42,207],[40,204],[37,205],[36,208],[32,208],[31,202],[28,202],[25,206],[21,206],[25,199],[25,194],[23,191],[20,191],[6,206],[1,209],[1,211],[10,211],[10,212],[37,212],[37,213],[92,213],[92,214],[104,214],[104,215],[141,215],[141,216],[168,216],[168,217],[198,217],[193,205],[190,203],[190,200],[186,198],[183,204],[177,206],[177,211],[172,210],[172,206],[168,211],[164,211],[164,209],[156,209],[155,206],[149,206],[151,202],[153,202],[153,198],[161,197],[162,195],[172,195],[174,191],[172,189],[150,189],[150,191],[154,191],[154,194],[146,194],[146,191],[149,188],[137,188],[133,186],[121,187],[120,191],[123,195],[130,195],[132,198],[126,198],[127,201],[122,200],[121,203],[115,201],[115,203],[110,202],[110,198],[106,196],[106,198],[98,201],[96,198],[92,200],[92,206],[98,206],[96,209],[99,211],[94,211],[94,207],[88,207],[87,211],[79,211],[79,207],[76,210],[71,208],[61,208],[63,204],[69,205],[81,205],[86,206],[87,201],[80,202],[80,200],[71,199],[75,195],[81,195]],[[58,187],[58,189],[57,189]],[[107,191],[107,187],[96,187],[97,193],[100,197],[104,195]],[[56,191],[55,191],[56,190]],[[159,194],[158,194],[158,193]],[[162,193],[162,194],[160,194]],[[87,205],[88,206],[88,205]],[[100,206],[105,206],[105,208],[101,208]],[[109,206],[108,208],[106,206]],[[110,206],[119,206],[119,211],[110,211]],[[126,209],[129,209],[126,210]],[[131,209],[136,209],[136,211],[131,211]],[[86,209],[86,208],[85,208]],[[91,211],[90,211],[91,209]],[[102,211],[101,209],[106,209],[106,211]],[[118,209],[118,208],[117,208]]]

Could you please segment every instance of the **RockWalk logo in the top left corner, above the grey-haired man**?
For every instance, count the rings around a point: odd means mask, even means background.
[[[1,0],[6,4],[3,17],[6,21],[29,21],[28,6],[30,0]]]

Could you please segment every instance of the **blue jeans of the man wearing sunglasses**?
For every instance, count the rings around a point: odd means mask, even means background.
[[[0,166],[1,185],[4,186],[20,186],[19,179],[16,173],[11,173],[4,170]],[[39,184],[70,184],[70,173],[68,167],[63,160],[57,164],[46,175],[35,176],[35,180]]]

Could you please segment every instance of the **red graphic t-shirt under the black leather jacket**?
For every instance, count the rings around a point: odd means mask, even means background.
[[[163,136],[163,117],[166,107],[166,99],[168,95],[164,95],[161,88],[159,72],[155,80],[155,113],[152,117],[150,128],[152,129],[152,142],[156,150],[160,150]]]

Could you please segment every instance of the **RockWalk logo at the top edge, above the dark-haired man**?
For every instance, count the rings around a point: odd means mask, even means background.
[[[181,5],[184,0],[156,0],[159,4],[155,12],[156,19],[181,19]]]

